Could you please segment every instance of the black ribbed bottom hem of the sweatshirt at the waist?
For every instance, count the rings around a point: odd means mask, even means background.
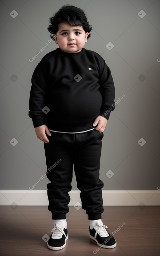
[[[53,123],[46,120],[46,126],[49,130],[53,131],[61,131],[63,133],[78,133],[79,131],[86,131],[93,128],[96,128],[96,126],[93,126],[94,120],[90,121],[89,123],[85,123],[83,125],[74,126],[74,125],[61,125],[60,123]]]

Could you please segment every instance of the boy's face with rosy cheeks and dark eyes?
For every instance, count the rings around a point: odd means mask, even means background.
[[[68,23],[60,23],[59,31],[55,36],[55,43],[59,45],[63,52],[76,53],[81,52],[87,42],[88,32],[85,32],[82,26],[70,26]]]

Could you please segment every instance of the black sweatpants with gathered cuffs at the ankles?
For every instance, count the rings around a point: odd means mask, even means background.
[[[81,191],[82,208],[89,220],[101,219],[102,187],[99,179],[100,155],[103,133],[93,129],[84,133],[52,132],[49,143],[44,143],[47,178],[48,210],[52,219],[66,219],[73,178],[73,165],[77,188]]]

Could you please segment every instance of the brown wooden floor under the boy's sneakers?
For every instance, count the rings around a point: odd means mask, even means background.
[[[0,206],[0,255],[160,256],[160,206],[106,206],[104,209],[102,221],[109,233],[115,233],[115,248],[100,248],[90,240],[85,211],[72,206],[67,214],[67,245],[53,251],[47,248],[46,242],[53,228],[47,206]]]

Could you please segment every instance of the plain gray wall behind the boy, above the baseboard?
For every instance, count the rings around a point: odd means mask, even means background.
[[[116,88],[117,106],[102,140],[100,178],[104,189],[157,189],[160,186],[159,0],[0,1],[0,189],[29,189],[46,172],[43,142],[37,139],[28,117],[29,92],[35,67],[58,46],[51,42],[33,62],[29,59],[50,38],[48,18],[67,3],[86,12],[93,31],[85,48],[105,59]],[[106,47],[111,46],[109,42],[113,48]],[[44,178],[34,189],[46,189],[47,183]],[[72,185],[76,189],[75,176]]]

